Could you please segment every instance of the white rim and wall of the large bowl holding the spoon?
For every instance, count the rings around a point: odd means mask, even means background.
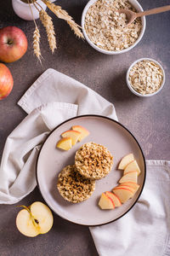
[[[129,46],[126,49],[122,49],[119,51],[114,51],[114,50],[107,50],[107,49],[101,49],[99,48],[96,44],[94,44],[89,38],[88,38],[88,34],[85,30],[84,24],[85,24],[85,17],[86,14],[88,12],[88,9],[90,8],[91,5],[93,5],[95,2],[97,2],[98,0],[89,0],[88,3],[86,4],[86,6],[84,7],[83,11],[82,11],[82,20],[81,20],[81,25],[82,25],[82,32],[84,37],[86,38],[88,44],[90,44],[94,49],[98,50],[99,52],[106,54],[106,55],[120,55],[122,53],[127,52],[130,49],[133,49],[133,47],[135,47],[137,44],[139,44],[140,40],[143,38],[144,36],[144,31],[145,31],[145,27],[146,27],[146,19],[145,16],[141,17],[142,20],[142,28],[141,28],[141,32],[139,34],[139,38],[135,41],[135,43],[131,46]],[[129,3],[131,3],[138,11],[142,12],[144,11],[144,9],[142,8],[142,6],[140,5],[140,3],[137,0],[129,0]]]

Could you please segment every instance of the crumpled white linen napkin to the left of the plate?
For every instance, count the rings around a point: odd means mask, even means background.
[[[0,203],[13,204],[37,185],[38,149],[65,119],[96,113],[117,119],[114,106],[94,90],[48,69],[18,102],[28,116],[8,136],[0,166]]]

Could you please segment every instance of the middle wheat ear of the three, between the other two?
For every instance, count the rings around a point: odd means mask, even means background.
[[[41,11],[39,12],[39,15],[40,15],[40,20],[42,21],[42,25],[45,27],[48,35],[49,48],[52,50],[52,53],[54,53],[54,49],[57,49],[57,45],[56,45],[53,21],[51,17],[46,13],[46,11],[44,11],[44,9],[41,9]]]

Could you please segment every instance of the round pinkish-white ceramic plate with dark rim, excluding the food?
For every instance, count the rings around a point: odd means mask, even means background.
[[[72,125],[82,125],[90,135],[81,143],[77,143],[71,150],[62,151],[56,148],[56,143],[60,139],[63,131],[71,129]],[[105,177],[96,181],[96,189],[93,195],[81,203],[73,204],[65,201],[57,189],[57,178],[59,172],[67,165],[74,164],[74,156],[78,148],[83,143],[94,142],[103,144],[114,156],[114,166],[111,172]],[[116,169],[117,164],[125,154],[133,153],[139,163],[141,174],[138,183],[139,190],[132,199],[127,201],[122,207],[114,210],[100,210],[98,207],[99,197],[102,192],[110,191],[122,177],[122,171]],[[56,127],[50,133],[45,143],[43,143],[37,159],[37,183],[44,200],[48,206],[60,217],[76,224],[94,226],[110,223],[117,218],[121,218],[128,212],[136,201],[144,187],[145,180],[145,160],[144,154],[137,140],[130,131],[114,121],[98,115],[84,115],[69,119]]]

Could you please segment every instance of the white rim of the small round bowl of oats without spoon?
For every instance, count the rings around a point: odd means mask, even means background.
[[[136,91],[136,90],[134,90],[133,89],[133,87],[132,87],[132,85],[129,83],[129,81],[128,81],[128,77],[129,77],[129,73],[130,73],[130,70],[132,69],[132,67],[136,64],[136,63],[138,63],[139,61],[153,61],[153,62],[155,62],[160,68],[161,68],[161,71],[162,71],[162,73],[163,73],[163,79],[162,79],[162,83],[161,83],[161,86],[160,86],[160,88],[158,89],[158,90],[156,90],[155,92],[153,92],[153,93],[150,93],[150,94],[140,94],[138,91]],[[131,66],[130,67],[128,67],[128,69],[127,69],[127,74],[126,74],[126,82],[127,82],[127,86],[128,86],[128,88],[129,88],[129,90],[131,90],[132,92],[133,92],[133,94],[135,94],[136,96],[140,96],[140,97],[150,97],[150,96],[154,96],[154,95],[156,95],[158,92],[160,92],[160,90],[163,88],[163,86],[164,86],[164,84],[165,84],[165,71],[164,71],[164,68],[162,67],[162,65],[161,65],[161,63],[160,62],[158,62],[158,61],[156,61],[156,60],[154,60],[154,59],[152,59],[152,58],[148,58],[148,57],[143,57],[143,58],[140,58],[140,59],[138,59],[138,60],[136,60],[136,61],[133,61],[133,63],[131,64]]]

